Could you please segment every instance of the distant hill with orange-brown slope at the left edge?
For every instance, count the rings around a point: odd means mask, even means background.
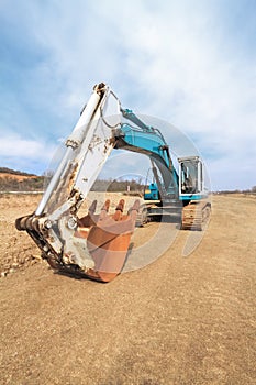
[[[0,167],[0,191],[41,191],[44,177]]]

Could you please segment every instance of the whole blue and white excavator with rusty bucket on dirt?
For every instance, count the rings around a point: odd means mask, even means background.
[[[149,158],[154,182],[143,202],[134,199],[125,212],[120,199],[114,212],[105,199],[97,199],[79,215],[112,151],[122,150]],[[169,145],[157,127],[123,109],[112,89],[100,82],[84,107],[65,142],[65,153],[36,210],[18,218],[41,249],[42,258],[57,272],[110,282],[129,258],[135,227],[151,221],[179,222],[180,229],[201,231],[210,217],[204,166],[199,155],[178,158],[178,172]]]

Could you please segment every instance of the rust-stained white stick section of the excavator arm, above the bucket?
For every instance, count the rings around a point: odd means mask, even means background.
[[[66,197],[71,191],[82,198],[87,196],[114,146],[111,128],[105,124],[104,117],[111,114],[116,125],[120,123],[120,101],[110,88],[104,84],[96,86],[66,141],[66,153],[35,211],[36,216],[42,216],[45,210],[48,219],[56,220],[74,205],[74,199],[59,205],[64,185],[67,188]]]

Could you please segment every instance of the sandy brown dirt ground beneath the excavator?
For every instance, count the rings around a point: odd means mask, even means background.
[[[214,196],[199,246],[187,232],[109,284],[54,273],[0,196],[0,384],[256,383],[256,198]]]

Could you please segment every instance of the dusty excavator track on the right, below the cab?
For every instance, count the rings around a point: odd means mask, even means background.
[[[182,230],[199,230],[207,228],[210,219],[211,205],[204,201],[192,201],[182,209]]]

